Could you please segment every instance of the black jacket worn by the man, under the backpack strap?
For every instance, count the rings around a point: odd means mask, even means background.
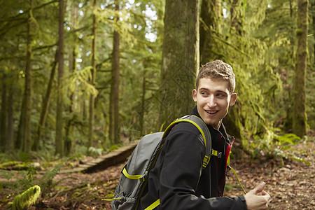
[[[191,114],[199,116],[197,107]],[[205,148],[198,137],[199,130],[190,123],[175,125],[148,176],[139,209],[146,209],[159,198],[160,206],[156,209],[247,209],[243,196],[222,197],[226,162],[234,138],[222,124],[219,130],[208,128],[212,148],[221,152],[222,158],[211,156],[209,165],[202,169]]]

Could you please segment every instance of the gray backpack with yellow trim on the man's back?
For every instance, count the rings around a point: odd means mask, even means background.
[[[174,125],[181,122],[188,122],[195,125],[200,130],[200,134],[206,147],[206,155],[204,156],[203,168],[207,167],[210,161],[210,155],[216,151],[211,150],[211,134],[204,121],[197,116],[184,116],[174,120],[165,132],[157,132],[148,134],[141,139],[134,152],[123,168],[123,175],[120,177],[118,186],[111,201],[111,208],[113,210],[133,210],[137,209],[141,194],[148,181],[148,174],[153,169],[161,148],[167,139],[167,135],[172,130]],[[157,200],[146,210],[158,207],[160,200]]]

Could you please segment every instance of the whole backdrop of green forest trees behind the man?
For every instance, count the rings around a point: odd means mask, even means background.
[[[1,1],[1,153],[91,155],[162,130],[193,108],[197,70],[214,59],[236,74],[224,123],[244,151],[307,140],[315,1],[190,3]]]

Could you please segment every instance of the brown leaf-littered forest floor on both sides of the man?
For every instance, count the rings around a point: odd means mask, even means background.
[[[314,209],[315,151],[314,141],[296,144],[290,149],[297,157],[309,162],[273,159],[264,161],[232,160],[246,191],[265,181],[265,190],[272,197],[269,209]],[[82,161],[82,160],[81,160]],[[87,158],[84,161],[89,161]],[[74,164],[75,165],[75,164]],[[125,162],[92,174],[57,174],[49,188],[29,209],[111,209],[110,202],[102,200],[113,196],[120,171]],[[235,197],[242,190],[232,172],[225,187],[225,196]],[[0,185],[1,187],[1,185]],[[15,190],[0,188],[0,209],[7,209]]]

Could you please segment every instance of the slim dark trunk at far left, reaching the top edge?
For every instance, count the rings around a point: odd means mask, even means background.
[[[32,46],[31,46],[31,18],[33,10],[33,1],[29,1],[29,20],[27,21],[27,64],[25,68],[25,115],[23,118],[23,141],[22,151],[28,153],[31,144],[31,59],[32,59]]]

